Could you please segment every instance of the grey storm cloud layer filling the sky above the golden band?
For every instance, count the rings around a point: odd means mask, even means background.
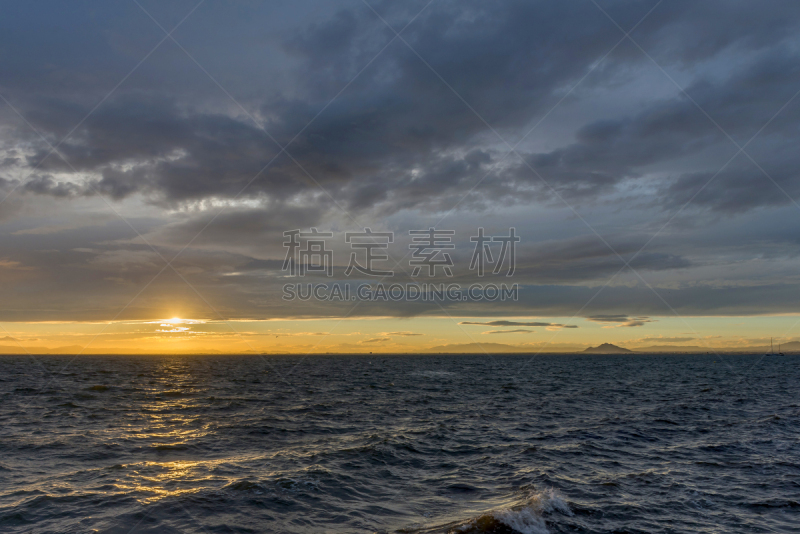
[[[193,5],[146,7],[170,29]],[[400,29],[424,5],[377,2],[375,9]],[[654,2],[601,5],[627,30]],[[72,306],[75,317],[107,319],[109,309],[164,265],[121,222],[14,234],[66,224],[48,222],[56,205],[77,213],[97,194],[115,205],[144,201],[160,215],[134,226],[167,258],[199,235],[175,266],[226,317],[337,316],[340,307],[287,309],[280,302],[280,254],[267,253],[267,242],[275,248],[280,232],[334,225],[335,217],[350,224],[340,206],[381,219],[402,210],[444,213],[458,204],[453,217],[470,223],[481,210],[525,206],[526,217],[539,217],[539,208],[562,207],[528,165],[570,204],[595,208],[587,221],[613,250],[583,226],[566,232],[555,217],[553,223],[521,218],[535,238],[526,235],[517,257],[514,281],[525,286],[520,302],[446,303],[448,311],[571,316],[624,266],[617,253],[625,260],[637,254],[631,266],[660,277],[654,286],[679,313],[794,310],[798,289],[781,279],[785,274],[709,278],[692,288],[658,285],[712,265],[715,254],[730,263],[750,260],[753,254],[742,249],[764,243],[760,259],[796,255],[796,247],[786,246],[796,244],[796,232],[786,225],[775,230],[773,218],[748,223],[747,232],[759,228],[752,235],[731,226],[717,234],[668,231],[639,250],[649,243],[654,213],[674,213],[690,200],[696,218],[681,217],[669,230],[699,226],[699,210],[707,210],[702,221],[719,217],[724,226],[755,208],[790,202],[744,155],[714,177],[736,152],[714,121],[744,144],[800,89],[800,3],[663,2],[632,37],[713,121],[626,41],[520,145],[524,160],[506,157],[508,147],[482,118],[516,143],[617,44],[622,33],[591,2],[435,0],[403,33],[435,73],[399,39],[370,64],[393,33],[358,2],[338,11],[322,3],[314,9],[207,3],[175,37],[247,112],[170,41],[93,110],[164,35],[133,3],[42,6],[9,6],[0,21],[0,93],[37,130],[0,103],[0,195],[17,188],[29,203],[15,194],[0,204],[0,219],[12,221],[0,255],[7,262],[0,269],[7,318],[57,319]],[[747,146],[794,198],[800,198],[798,119],[800,99]],[[49,144],[79,123],[50,154]],[[279,145],[288,143],[288,154],[280,154]],[[615,224],[634,215],[646,221]],[[471,276],[456,273],[458,281]],[[722,270],[719,276],[734,277]],[[162,277],[141,307],[128,310],[132,317],[187,295],[197,313],[211,313],[171,270]],[[592,306],[590,320],[608,326],[642,326],[671,313],[647,288],[630,284],[604,289]],[[419,303],[369,303],[358,313],[436,311]],[[574,327],[495,322],[484,324]]]

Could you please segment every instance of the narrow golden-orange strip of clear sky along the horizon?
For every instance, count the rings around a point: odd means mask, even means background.
[[[551,326],[518,326],[520,323]],[[494,323],[494,324],[492,324]],[[498,323],[517,324],[517,326]],[[308,354],[746,350],[800,341],[796,316],[656,317],[631,327],[586,318],[418,317],[214,321],[174,316],[111,323],[0,323],[0,354]],[[563,325],[572,328],[563,328]]]

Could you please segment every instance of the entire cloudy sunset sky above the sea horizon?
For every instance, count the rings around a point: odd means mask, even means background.
[[[779,0],[9,3],[0,353],[800,341],[798,30]],[[284,268],[312,228],[330,276]],[[348,272],[367,228],[391,276]],[[519,237],[484,276],[479,228]],[[285,289],[380,283],[518,291]]]

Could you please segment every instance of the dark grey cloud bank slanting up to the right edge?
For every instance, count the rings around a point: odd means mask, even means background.
[[[683,173],[664,184],[666,206],[679,206],[692,198],[735,154],[734,141],[744,145],[780,111],[769,122],[760,142],[747,151],[757,161],[761,160],[759,164],[795,196],[800,192],[797,176],[800,161],[791,147],[797,142],[795,125],[800,118],[800,106],[790,105],[783,110],[781,107],[800,90],[798,59],[796,52],[784,47],[760,53],[741,71],[692,83],[686,92],[694,102],[679,96],[656,102],[630,118],[587,124],[578,130],[575,143],[532,156],[531,163],[568,198],[596,196],[623,179],[641,177],[652,171],[653,166],[701,154],[715,145],[727,147],[727,157],[709,160],[711,170]],[[695,201],[721,211],[786,203],[788,200],[780,189],[764,187],[769,182],[757,166],[739,156]]]

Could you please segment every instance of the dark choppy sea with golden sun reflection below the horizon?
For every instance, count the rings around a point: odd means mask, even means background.
[[[800,532],[800,357],[3,356],[0,531]]]

